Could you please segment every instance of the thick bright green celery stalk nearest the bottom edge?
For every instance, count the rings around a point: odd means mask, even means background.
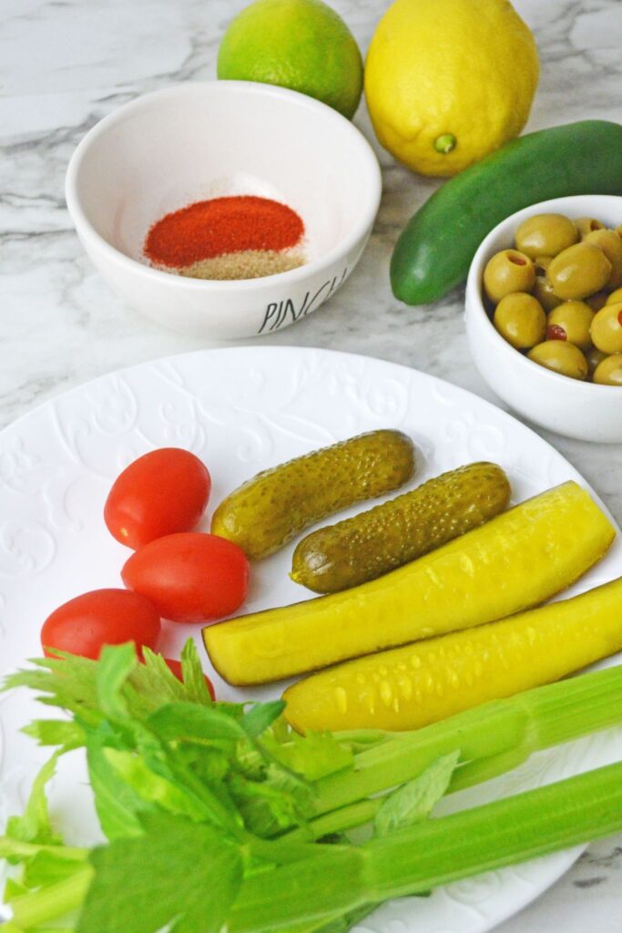
[[[323,857],[244,882],[228,930],[268,933],[331,918],[620,829],[622,762],[358,847],[326,846]]]

